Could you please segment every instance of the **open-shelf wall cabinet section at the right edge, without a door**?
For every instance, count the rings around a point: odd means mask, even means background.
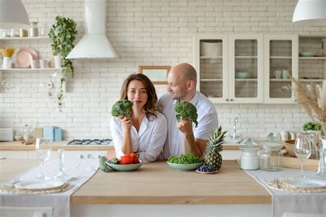
[[[299,35],[298,43],[298,78],[308,91],[312,85],[321,89],[326,80],[326,36]]]

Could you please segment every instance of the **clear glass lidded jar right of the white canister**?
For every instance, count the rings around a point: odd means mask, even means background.
[[[259,154],[259,170],[264,171],[280,171],[281,157],[283,153],[280,152],[283,144],[276,140],[274,133],[268,135],[268,141],[260,144],[261,152]]]

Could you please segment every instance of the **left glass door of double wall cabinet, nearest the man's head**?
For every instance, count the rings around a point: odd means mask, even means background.
[[[228,101],[228,40],[224,35],[195,34],[197,90],[213,103]]]

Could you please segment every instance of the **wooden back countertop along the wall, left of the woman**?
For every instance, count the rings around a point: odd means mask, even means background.
[[[65,146],[69,141],[54,141],[52,150],[114,150],[114,146]],[[34,145],[24,145],[21,141],[1,141],[0,150],[34,150]]]

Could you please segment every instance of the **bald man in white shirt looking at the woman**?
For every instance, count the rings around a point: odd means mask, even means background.
[[[168,88],[159,102],[168,120],[168,136],[163,148],[163,159],[169,156],[191,153],[203,156],[209,135],[218,126],[215,106],[202,93],[196,91],[197,73],[188,63],[172,67],[168,74]],[[177,122],[175,103],[191,102],[197,108],[198,126],[188,119]]]

